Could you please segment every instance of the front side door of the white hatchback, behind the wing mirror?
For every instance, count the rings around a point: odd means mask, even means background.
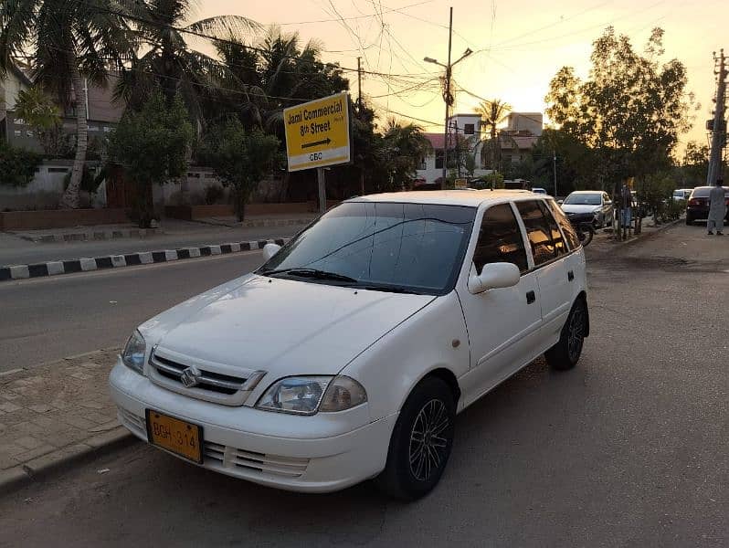
[[[524,247],[525,237],[509,203],[491,205],[483,213],[476,246],[466,260],[470,274],[491,262],[511,262],[522,272],[519,283],[472,294],[468,280],[458,287],[469,333],[471,368],[460,379],[465,405],[491,390],[534,356],[542,312],[536,274]]]

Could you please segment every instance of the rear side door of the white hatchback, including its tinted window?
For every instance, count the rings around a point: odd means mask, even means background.
[[[555,217],[544,200],[516,203],[522,218],[534,261],[534,273],[539,287],[544,340],[540,346],[555,341],[572,306],[572,284],[575,273],[570,274],[565,264],[569,250],[565,238],[557,227]],[[557,337],[558,338],[558,337]]]

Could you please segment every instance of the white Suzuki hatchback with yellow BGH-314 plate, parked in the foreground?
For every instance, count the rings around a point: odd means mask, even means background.
[[[457,413],[542,353],[573,367],[589,332],[583,248],[543,195],[362,196],[264,255],[140,325],[110,384],[137,437],[272,487],[416,499]]]

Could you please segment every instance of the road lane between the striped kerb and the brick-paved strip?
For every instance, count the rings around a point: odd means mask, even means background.
[[[174,304],[259,267],[260,251],[0,283],[0,372],[98,348]]]

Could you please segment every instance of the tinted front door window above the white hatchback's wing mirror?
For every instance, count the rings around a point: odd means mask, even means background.
[[[483,265],[492,262],[510,262],[522,272],[529,268],[522,230],[509,204],[493,205],[483,214],[479,241],[473,252],[473,264],[476,271],[481,273]]]

